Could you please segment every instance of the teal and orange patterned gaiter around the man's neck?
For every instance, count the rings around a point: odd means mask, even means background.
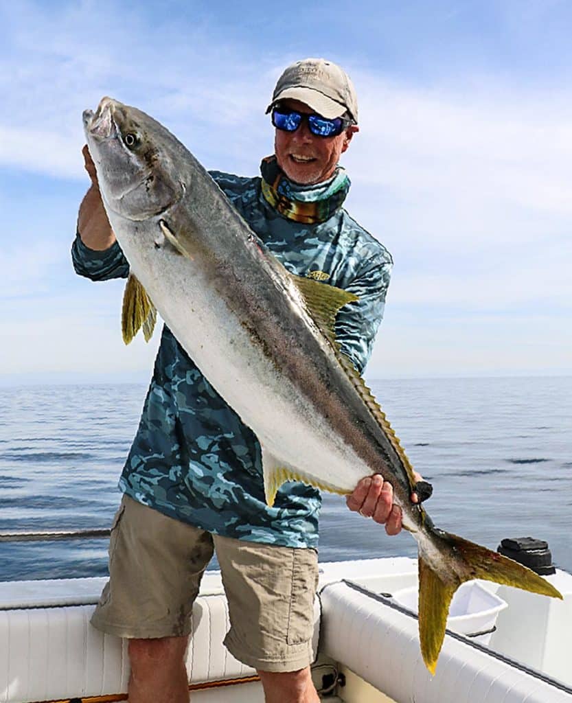
[[[338,166],[331,179],[315,186],[289,181],[277,164],[276,156],[267,156],[260,164],[262,195],[287,219],[304,224],[317,224],[341,207],[350,190],[350,179]]]

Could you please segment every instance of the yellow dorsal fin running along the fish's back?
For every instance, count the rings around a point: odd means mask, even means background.
[[[411,463],[409,463],[409,459],[398,437],[395,435],[393,428],[389,424],[389,420],[386,418],[386,414],[374,398],[371,390],[365,385],[360,372],[355,368],[349,356],[343,354],[340,343],[336,340],[335,325],[338,311],[346,303],[359,300],[359,297],[347,290],[335,288],[333,285],[328,285],[327,283],[319,283],[319,281],[312,280],[311,278],[302,278],[300,276],[292,276],[292,278],[298,290],[300,290],[303,295],[312,319],[318,325],[324,336],[331,342],[334,352],[336,353],[336,358],[341,363],[343,370],[367,405],[371,415],[373,415],[378,425],[386,434],[395,453],[399,456],[407,472],[409,484],[413,488],[415,485],[414,470]]]

